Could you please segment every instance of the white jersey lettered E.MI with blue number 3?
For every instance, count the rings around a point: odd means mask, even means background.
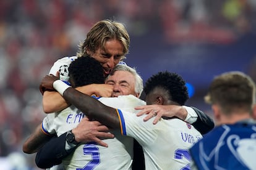
[[[100,98],[100,102],[114,108],[122,108],[130,114],[134,107],[145,105],[143,100],[134,95]],[[57,133],[58,136],[73,129],[86,116],[74,106],[70,106],[59,113],[51,113],[43,120],[43,131],[48,134]],[[75,152],[64,158],[62,164],[65,169],[131,169],[133,158],[133,139],[122,136],[120,131],[112,131],[114,139],[105,139],[108,148],[92,142],[80,144]]]

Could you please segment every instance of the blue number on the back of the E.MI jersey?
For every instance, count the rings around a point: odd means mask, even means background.
[[[99,148],[95,145],[95,142],[89,142],[83,146],[83,155],[92,155],[92,160],[85,164],[83,168],[77,168],[77,170],[92,170],[100,164]]]

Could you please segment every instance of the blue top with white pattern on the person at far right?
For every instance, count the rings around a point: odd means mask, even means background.
[[[215,127],[190,154],[198,169],[256,169],[256,123]]]

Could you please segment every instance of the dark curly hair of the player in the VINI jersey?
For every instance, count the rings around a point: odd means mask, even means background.
[[[187,99],[189,99],[186,82],[176,73],[161,71],[151,76],[145,83],[145,94],[149,94],[156,87],[160,87],[168,91],[169,100],[177,102],[180,105],[184,105]]]

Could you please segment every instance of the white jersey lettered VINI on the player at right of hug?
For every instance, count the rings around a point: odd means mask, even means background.
[[[189,148],[202,135],[181,119],[160,119],[153,124],[126,110],[118,110],[124,136],[136,139],[143,147],[146,169],[189,169]]]

